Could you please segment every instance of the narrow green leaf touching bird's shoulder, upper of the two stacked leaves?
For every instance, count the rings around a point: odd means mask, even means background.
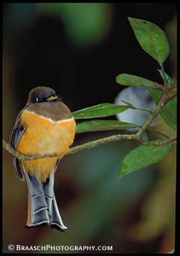
[[[73,112],[75,119],[98,118],[104,116],[114,116],[117,113],[122,113],[128,110],[128,106],[115,105],[111,103],[98,104],[93,107],[83,108]]]

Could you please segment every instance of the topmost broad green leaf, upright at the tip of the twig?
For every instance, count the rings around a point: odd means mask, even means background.
[[[141,48],[159,64],[163,64],[169,55],[169,43],[163,29],[147,20],[130,17],[128,20]]]

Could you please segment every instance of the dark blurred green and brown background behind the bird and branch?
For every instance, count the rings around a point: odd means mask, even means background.
[[[17,113],[35,86],[52,87],[74,111],[101,102],[113,103],[124,89],[115,82],[122,72],[162,83],[157,62],[138,45],[128,16],[149,20],[165,31],[171,45],[165,70],[176,76],[173,2],[9,3],[3,7],[3,133],[7,141]],[[174,133],[165,123],[159,127],[168,135]],[[114,133],[77,135],[74,145]],[[69,227],[66,233],[48,227],[24,228],[26,183],[18,180],[12,157],[4,151],[4,252],[9,252],[8,244],[106,245],[119,253],[171,251],[175,148],[163,161],[118,180],[123,157],[137,145],[130,141],[109,143],[60,162],[55,195]]]

